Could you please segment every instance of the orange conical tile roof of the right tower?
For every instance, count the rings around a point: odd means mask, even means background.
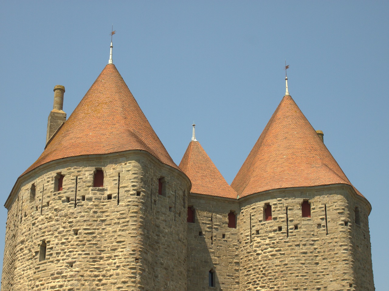
[[[231,186],[244,197],[272,189],[339,183],[352,186],[300,108],[286,95]]]

